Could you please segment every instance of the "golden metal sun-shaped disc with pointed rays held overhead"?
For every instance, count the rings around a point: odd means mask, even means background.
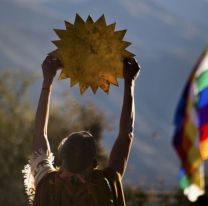
[[[123,59],[135,56],[125,50],[131,43],[123,41],[126,30],[115,31],[115,23],[106,25],[102,15],[97,21],[88,16],[86,22],[76,14],[74,24],[65,21],[66,30],[55,29],[60,40],[52,41],[57,49],[50,55],[63,62],[59,79],[79,83],[82,94],[88,87],[96,93],[100,87],[109,92],[123,77]]]

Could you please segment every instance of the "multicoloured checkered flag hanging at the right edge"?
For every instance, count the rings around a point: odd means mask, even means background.
[[[204,194],[208,159],[208,49],[200,56],[179,101],[173,146],[180,158],[180,188],[190,201]]]

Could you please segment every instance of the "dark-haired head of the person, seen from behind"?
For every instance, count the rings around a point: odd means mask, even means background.
[[[71,133],[59,144],[58,153],[61,167],[81,173],[96,160],[95,140],[86,131]]]

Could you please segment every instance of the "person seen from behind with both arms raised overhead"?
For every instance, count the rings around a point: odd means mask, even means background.
[[[93,136],[81,131],[63,139],[58,148],[60,169],[53,166],[47,138],[52,81],[61,62],[47,57],[43,67],[43,87],[39,99],[33,137],[33,157],[23,170],[26,192],[33,206],[125,206],[122,188],[133,140],[134,80],[139,65],[124,62],[124,101],[119,135],[109,157],[108,167],[97,170]]]

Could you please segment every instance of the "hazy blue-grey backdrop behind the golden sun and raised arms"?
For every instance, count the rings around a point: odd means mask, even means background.
[[[129,51],[141,64],[136,82],[135,139],[126,183],[177,186],[178,158],[171,146],[174,112],[185,82],[197,58],[208,45],[207,0],[0,0],[0,69],[25,69],[40,73],[54,28],[64,20],[73,22],[78,13],[84,19],[105,15],[116,30],[127,29]],[[69,91],[83,104],[93,102],[104,110],[113,131],[104,145],[110,150],[117,135],[123,95],[123,81],[110,94],[78,87]],[[54,93],[68,87],[56,81]],[[38,96],[40,85],[34,96]],[[55,97],[54,97],[55,99]],[[37,100],[35,100],[37,101]]]

